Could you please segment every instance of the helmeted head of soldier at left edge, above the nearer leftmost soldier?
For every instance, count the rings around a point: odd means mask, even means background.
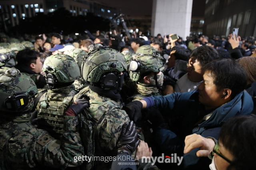
[[[0,49],[0,74],[15,65],[15,53],[10,49]]]

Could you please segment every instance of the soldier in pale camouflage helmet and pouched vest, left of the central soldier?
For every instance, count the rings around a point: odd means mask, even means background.
[[[62,54],[47,57],[42,70],[49,89],[39,90],[38,128],[58,139],[64,133],[63,114],[77,94],[72,83],[79,78],[80,70],[72,57]]]

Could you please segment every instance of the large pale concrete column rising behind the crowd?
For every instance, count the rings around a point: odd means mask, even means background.
[[[153,0],[151,34],[177,33],[183,39],[190,34],[193,0]]]

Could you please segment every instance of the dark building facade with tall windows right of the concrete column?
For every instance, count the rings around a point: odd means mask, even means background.
[[[256,36],[255,0],[206,0],[204,35],[225,35],[239,28],[241,37]]]

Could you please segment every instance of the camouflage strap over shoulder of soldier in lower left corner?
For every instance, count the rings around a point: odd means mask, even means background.
[[[8,142],[8,140],[12,136],[16,135],[17,133],[20,133],[21,131],[28,131],[28,129],[32,129],[32,128],[35,128],[35,127],[29,123],[20,123],[6,130],[6,133],[0,139],[0,150],[3,150],[4,145]]]

